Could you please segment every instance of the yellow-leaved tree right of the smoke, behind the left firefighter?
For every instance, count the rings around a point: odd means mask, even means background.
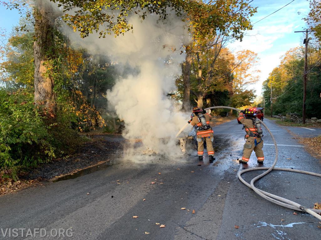
[[[249,5],[250,2],[247,0],[190,2],[187,5],[186,11],[194,34],[193,41],[189,44],[188,48],[192,50],[194,57],[197,58],[195,56],[197,52],[204,53],[204,51],[210,48],[215,48],[216,56],[218,56],[228,40],[242,40],[244,31],[252,29],[249,18],[256,12],[256,8]],[[187,54],[187,58],[183,79],[186,79],[185,82],[188,85],[189,54]],[[207,75],[204,78],[206,82],[212,77],[215,61],[216,58],[209,65]],[[201,77],[200,75],[198,76]],[[188,87],[185,88],[185,91],[188,91]],[[188,93],[184,93],[186,98],[188,95]],[[202,95],[202,93],[198,94],[200,104],[202,102],[201,98],[203,98]],[[189,101],[186,98],[183,100],[183,108]]]

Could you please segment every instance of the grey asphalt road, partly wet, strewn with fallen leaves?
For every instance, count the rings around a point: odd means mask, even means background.
[[[278,167],[321,173],[320,160],[293,139],[288,127],[264,122],[279,144]],[[207,156],[202,167],[195,156],[149,164],[115,160],[100,171],[1,196],[0,228],[45,228],[47,233],[71,228],[73,237],[67,239],[320,239],[317,219],[267,202],[238,180],[239,169],[257,166],[254,153],[248,166],[236,161],[242,156],[242,125],[234,120],[213,130],[214,164]],[[275,154],[267,131],[264,144],[264,165],[270,166]],[[250,181],[257,174],[244,176]],[[307,207],[321,202],[321,179],[314,176],[273,171],[256,186]]]

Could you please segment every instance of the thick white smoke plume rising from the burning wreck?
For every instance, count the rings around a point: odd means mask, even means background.
[[[107,92],[108,102],[125,122],[124,137],[141,139],[142,149],[151,148],[162,155],[181,154],[175,135],[188,118],[166,95],[176,89],[175,77],[181,74],[180,64],[185,59],[182,45],[190,40],[186,23],[175,13],[165,21],[155,15],[145,20],[132,15],[129,22],[133,24],[133,32],[116,38],[99,38],[94,33],[81,39],[78,33],[71,34],[69,28],[68,35],[91,54],[106,54],[118,64],[139,69],[138,74],[135,71],[119,78]]]

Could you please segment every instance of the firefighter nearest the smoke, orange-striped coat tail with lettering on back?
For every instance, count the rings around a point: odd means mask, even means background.
[[[209,125],[212,116],[206,113],[203,109],[194,107],[192,110],[192,119],[188,121],[193,126],[196,126],[196,140],[198,143],[197,155],[199,164],[203,164],[203,153],[204,153],[204,141],[206,141],[207,154],[210,159],[210,163],[215,160],[214,149],[213,149],[213,130]]]

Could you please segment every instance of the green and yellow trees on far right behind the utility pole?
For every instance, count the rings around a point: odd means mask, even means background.
[[[309,48],[308,52],[310,62],[308,64],[306,114],[308,117],[320,118],[321,114],[318,110],[321,104],[319,50]],[[281,64],[273,69],[268,79],[263,83],[263,97],[266,108],[270,108],[270,88],[272,84],[273,114],[285,115],[291,112],[302,115],[303,65],[302,48],[290,49],[283,56]]]

